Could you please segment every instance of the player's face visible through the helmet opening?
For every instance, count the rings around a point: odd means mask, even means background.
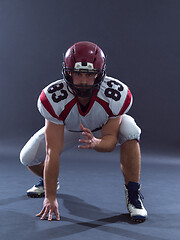
[[[96,73],[73,72],[72,79],[75,85],[92,86],[94,84]]]

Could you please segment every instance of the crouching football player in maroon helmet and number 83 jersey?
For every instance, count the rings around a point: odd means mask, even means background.
[[[129,88],[106,76],[106,59],[94,43],[72,45],[63,63],[63,79],[45,87],[38,109],[45,126],[35,133],[20,153],[22,164],[42,177],[27,191],[30,197],[45,196],[36,216],[60,219],[56,191],[59,188],[59,157],[71,147],[111,152],[120,146],[127,209],[134,221],[144,221],[147,211],[140,193],[141,130],[126,113],[132,105]]]

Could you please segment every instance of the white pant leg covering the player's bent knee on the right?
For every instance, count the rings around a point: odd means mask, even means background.
[[[124,114],[119,128],[119,143],[123,144],[127,140],[140,140],[141,129],[137,126],[134,118]]]

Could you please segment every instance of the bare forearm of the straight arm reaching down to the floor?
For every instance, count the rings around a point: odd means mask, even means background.
[[[57,154],[47,154],[44,165],[44,187],[45,197],[56,198],[57,178],[59,175],[59,156]]]

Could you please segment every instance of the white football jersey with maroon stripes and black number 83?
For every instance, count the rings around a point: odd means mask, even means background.
[[[38,99],[38,109],[45,119],[65,125],[67,130],[73,132],[81,131],[80,123],[91,131],[100,129],[108,119],[126,113],[131,105],[129,88],[107,76],[98,93],[92,96],[86,112],[82,112],[78,98],[69,91],[63,79],[45,87]]]

